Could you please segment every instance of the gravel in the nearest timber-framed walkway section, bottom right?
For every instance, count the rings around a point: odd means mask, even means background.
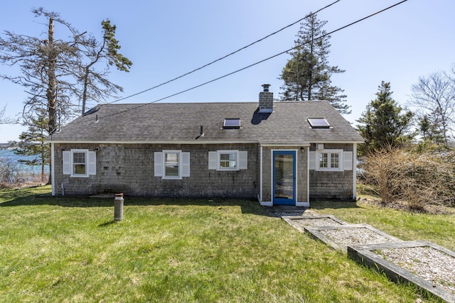
[[[455,258],[431,247],[379,251],[385,260],[455,294]]]

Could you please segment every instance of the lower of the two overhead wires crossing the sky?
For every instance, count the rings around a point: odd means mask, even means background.
[[[375,13],[372,13],[372,14],[369,15],[369,16],[360,18],[360,19],[358,19],[357,21],[354,21],[354,22],[352,22],[352,23],[349,23],[349,24],[347,24],[346,26],[342,26],[341,28],[337,28],[336,30],[331,31],[330,33],[325,33],[325,34],[323,34],[323,35],[320,35],[319,37],[316,37],[315,40],[316,40],[316,39],[320,39],[320,38],[324,38],[324,37],[326,37],[327,35],[331,35],[331,34],[333,34],[333,33],[336,33],[336,32],[338,32],[338,31],[341,31],[341,30],[343,30],[343,29],[345,29],[345,28],[348,28],[349,26],[353,26],[353,25],[356,24],[356,23],[359,23],[359,22],[364,21],[364,20],[366,20],[366,19],[368,19],[368,18],[371,18],[371,17],[373,17],[373,16],[376,16],[376,15],[378,15],[378,14],[380,14],[380,13],[383,13],[384,11],[387,11],[387,10],[389,10],[389,9],[392,9],[392,8],[394,8],[395,6],[398,6],[398,5],[400,5],[400,4],[405,3],[406,1],[407,1],[407,0],[400,1],[400,2],[398,2],[398,3],[396,3],[396,4],[393,4],[392,6],[388,6],[388,7],[385,8],[385,9],[382,9],[382,10],[380,10],[380,11],[377,11],[377,12],[375,12]],[[198,84],[198,85],[196,85],[195,87],[191,87],[191,88],[189,88],[189,89],[185,89],[185,90],[183,90],[183,91],[181,91],[181,92],[177,92],[177,93],[175,93],[175,94],[168,95],[168,96],[166,96],[166,97],[163,97],[163,98],[161,98],[161,99],[157,99],[157,100],[155,100],[155,101],[151,101],[151,102],[149,102],[149,103],[141,104],[141,105],[136,106],[136,107],[134,107],[134,108],[132,108],[132,109],[125,109],[124,111],[119,111],[119,112],[117,112],[117,113],[109,114],[109,115],[106,115],[106,116],[103,116],[103,117],[100,117],[100,118],[105,118],[105,117],[109,117],[109,116],[115,116],[115,115],[117,115],[117,114],[123,114],[123,113],[125,113],[125,112],[127,112],[127,111],[132,111],[132,110],[134,110],[134,109],[139,109],[139,108],[141,108],[141,107],[144,107],[144,106],[147,106],[147,105],[150,105],[150,104],[154,104],[154,103],[159,102],[159,101],[163,101],[164,99],[168,99],[168,98],[177,96],[178,94],[183,94],[183,93],[185,93],[185,92],[189,92],[189,91],[191,91],[191,90],[193,90],[193,89],[197,89],[198,87],[202,87],[202,86],[204,86],[204,85],[206,85],[206,84],[209,84],[209,83],[218,81],[219,79],[223,79],[223,78],[228,77],[228,76],[230,76],[230,75],[234,75],[234,74],[236,74],[237,72],[241,72],[242,70],[247,70],[247,69],[250,68],[250,67],[253,67],[253,66],[255,66],[255,65],[259,65],[260,63],[265,62],[265,61],[270,60],[270,59],[273,59],[274,57],[278,57],[278,56],[283,55],[283,54],[285,54],[285,53],[289,53],[291,50],[295,50],[296,48],[300,48],[302,45],[305,45],[305,44],[307,44],[307,43],[303,43],[303,44],[301,44],[301,45],[296,45],[296,46],[294,46],[294,48],[289,48],[289,50],[284,50],[283,52],[277,53],[276,55],[272,55],[271,57],[267,57],[267,58],[265,58],[264,60],[260,60],[260,61],[258,61],[258,62],[255,62],[255,63],[251,64],[251,65],[248,65],[248,66],[246,66],[246,67],[242,67],[240,70],[235,70],[234,72],[230,72],[229,74],[223,75],[223,76],[218,77],[218,78],[215,78],[215,79],[211,79],[210,81],[204,82],[204,83],[202,83],[202,84]]]

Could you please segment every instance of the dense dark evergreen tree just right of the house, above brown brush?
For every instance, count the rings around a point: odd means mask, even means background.
[[[400,147],[413,137],[409,128],[414,114],[412,111],[402,114],[403,109],[392,99],[390,82],[382,81],[376,96],[357,120],[361,123],[357,130],[365,138],[365,144],[359,147],[363,154],[383,148]]]

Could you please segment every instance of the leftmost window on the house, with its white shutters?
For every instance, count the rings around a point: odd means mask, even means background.
[[[63,175],[89,177],[97,174],[96,153],[89,150],[63,151]]]

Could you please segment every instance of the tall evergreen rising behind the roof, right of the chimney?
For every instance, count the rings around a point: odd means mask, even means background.
[[[345,72],[338,66],[328,65],[330,51],[329,39],[323,30],[327,21],[320,21],[311,14],[301,23],[294,43],[296,48],[290,52],[291,59],[282,70],[279,79],[284,81],[281,89],[282,99],[295,101],[327,100],[341,114],[350,114],[350,106],[345,104],[343,89],[331,83],[331,76]]]

